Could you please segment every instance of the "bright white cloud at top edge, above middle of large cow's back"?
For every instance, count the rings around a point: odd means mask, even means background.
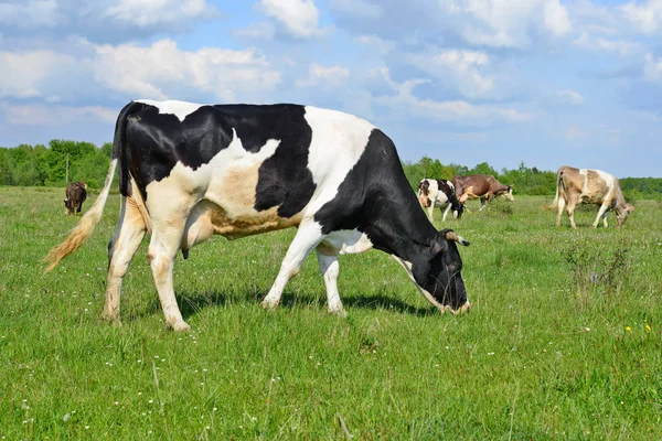
[[[308,40],[319,36],[319,11],[312,0],[260,0],[255,8],[278,22],[292,37]]]

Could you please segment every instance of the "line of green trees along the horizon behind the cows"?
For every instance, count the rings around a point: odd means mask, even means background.
[[[104,183],[111,154],[110,142],[98,148],[92,142],[61,139],[51,140],[49,146],[0,148],[0,185],[65,186],[68,178],[70,182],[85,181],[88,187],[96,189]],[[403,162],[403,169],[414,190],[423,178],[451,180],[458,174],[491,174],[501,183],[513,185],[516,194],[549,196],[556,191],[556,171],[528,168],[524,162],[516,169],[498,171],[487,162],[470,169],[423,157],[417,162]],[[662,197],[662,178],[622,178],[620,183],[629,200]]]

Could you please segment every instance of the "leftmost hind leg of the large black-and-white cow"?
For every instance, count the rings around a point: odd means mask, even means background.
[[[102,320],[120,323],[119,299],[121,282],[129,263],[145,236],[146,225],[132,197],[121,197],[121,213],[115,235],[108,243],[108,278],[106,279],[106,304]]]

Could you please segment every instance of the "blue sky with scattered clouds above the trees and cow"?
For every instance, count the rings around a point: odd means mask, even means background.
[[[0,146],[130,99],[299,103],[404,160],[662,176],[662,0],[4,0]]]

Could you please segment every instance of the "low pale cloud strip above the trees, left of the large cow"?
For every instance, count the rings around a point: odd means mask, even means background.
[[[15,126],[60,126],[74,121],[98,120],[114,123],[117,109],[102,106],[11,105],[0,104],[6,122]]]

